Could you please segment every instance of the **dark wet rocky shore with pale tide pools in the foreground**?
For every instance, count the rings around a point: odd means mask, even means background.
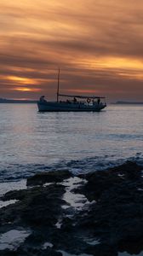
[[[0,209],[0,255],[140,253],[142,170],[127,162],[78,177],[57,171],[28,178],[27,189],[10,191],[1,198],[16,201]]]

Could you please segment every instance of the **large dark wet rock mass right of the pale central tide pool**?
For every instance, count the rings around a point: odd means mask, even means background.
[[[141,170],[129,162],[105,172],[88,174],[88,183],[82,191],[97,202],[89,206],[86,216],[78,218],[79,226],[90,229],[95,237],[110,246],[143,236]]]

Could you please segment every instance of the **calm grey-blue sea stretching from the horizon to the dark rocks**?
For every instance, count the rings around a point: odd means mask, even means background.
[[[100,113],[38,113],[34,104],[0,104],[0,181],[44,170],[91,172],[126,160],[143,165],[143,106]]]

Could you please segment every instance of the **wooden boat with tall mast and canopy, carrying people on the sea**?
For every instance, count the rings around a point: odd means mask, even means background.
[[[60,69],[58,73],[57,99],[55,102],[49,102],[45,100],[44,96],[41,96],[37,102],[39,112],[100,112],[100,110],[106,108],[106,97],[63,95],[59,93],[59,90]],[[60,97],[64,97],[64,100],[60,100]]]

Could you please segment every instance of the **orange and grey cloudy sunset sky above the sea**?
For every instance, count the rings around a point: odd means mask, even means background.
[[[143,102],[142,0],[0,0],[0,97]]]

